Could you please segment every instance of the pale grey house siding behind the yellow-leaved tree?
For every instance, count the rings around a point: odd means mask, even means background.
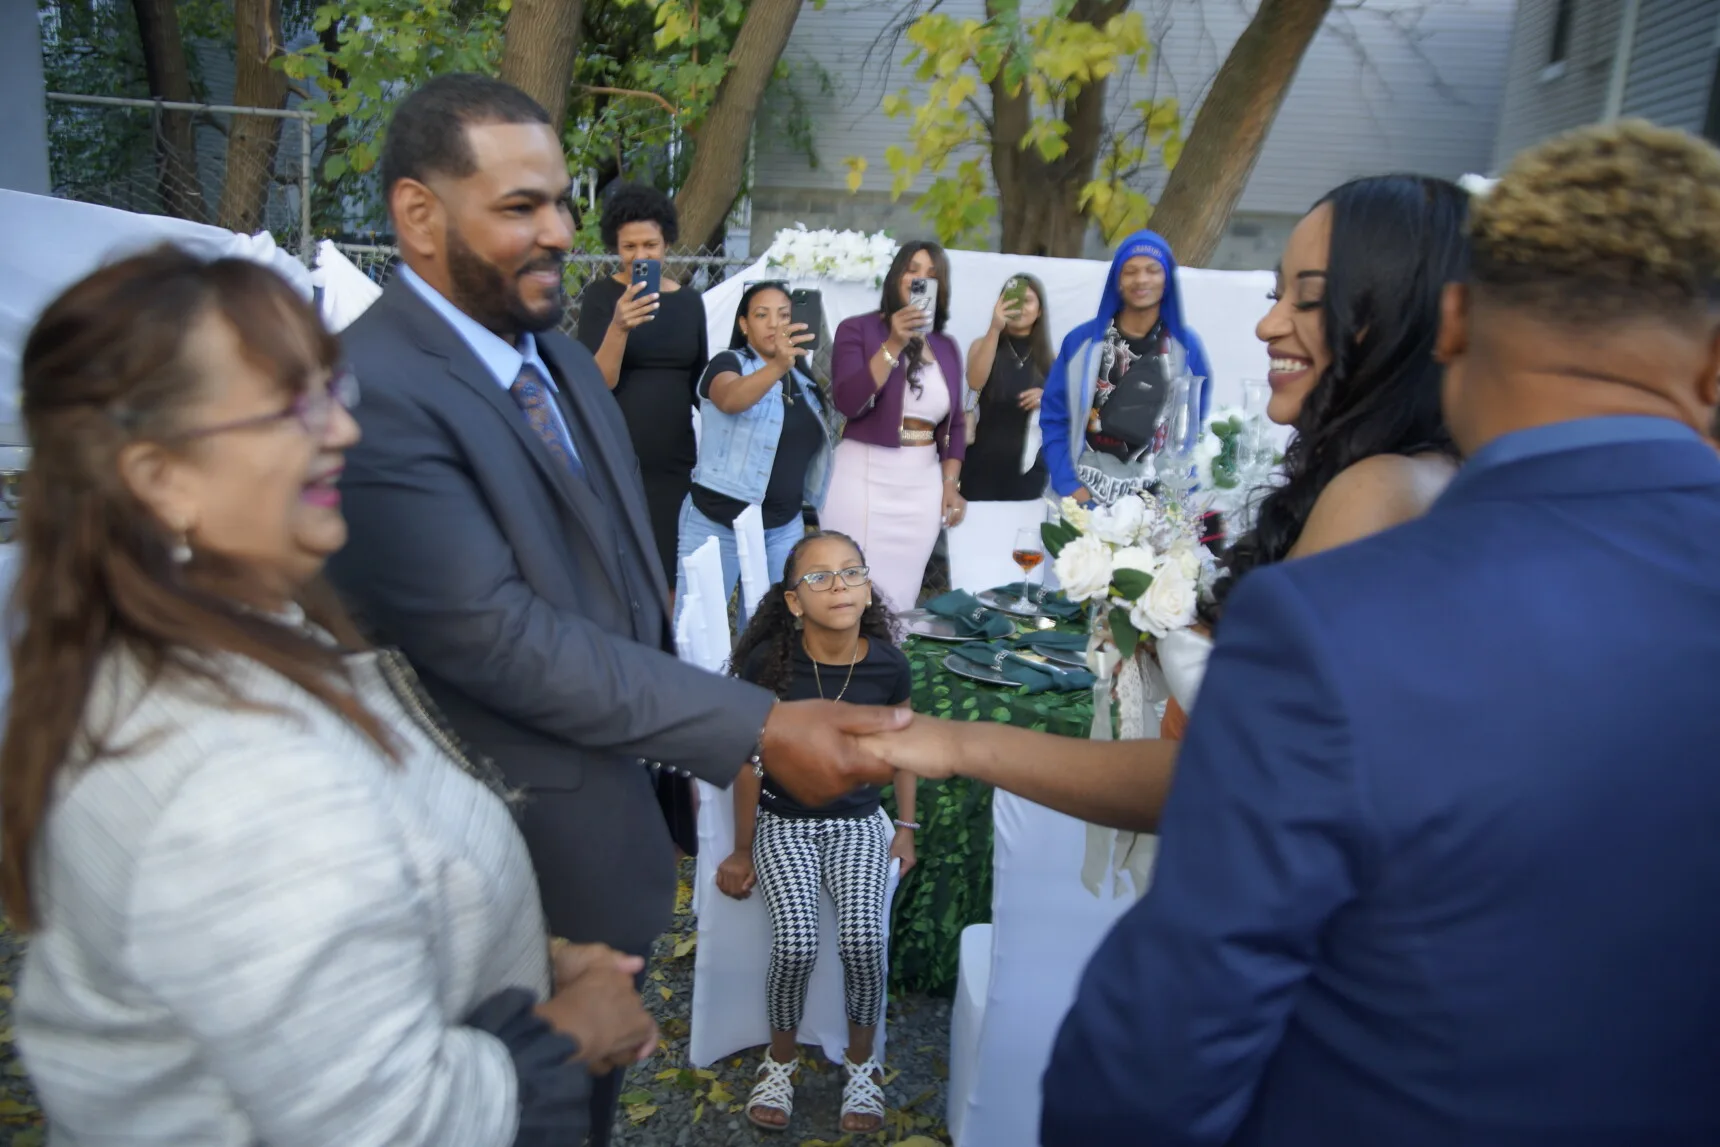
[[[802,10],[784,58],[802,74],[798,86],[817,126],[820,162],[810,165],[765,120],[755,146],[755,249],[793,222],[884,225],[898,237],[929,230],[912,210],[912,191],[900,201],[888,194],[886,148],[903,143],[910,127],[886,117],[879,103],[888,93],[918,88],[901,67],[906,43],[888,34],[898,9],[877,0],[829,0],[822,10]],[[1237,206],[1235,234],[1211,265],[1269,267],[1288,222],[1347,179],[1388,170],[1457,177],[1488,169],[1512,9],[1512,0],[1378,0],[1335,10],[1273,124]],[[982,19],[984,0],[944,0],[939,10]],[[1135,10],[1158,50],[1147,69],[1113,79],[1109,103],[1121,108],[1175,98],[1192,122],[1254,3],[1146,0]],[[819,69],[831,81],[829,93],[815,91],[810,77]],[[845,184],[843,158],[850,155],[869,162],[858,196]],[[989,162],[980,160],[989,177]],[[1156,196],[1163,181],[1164,172],[1149,172],[1142,189]],[[925,184],[922,177],[913,189]]]

